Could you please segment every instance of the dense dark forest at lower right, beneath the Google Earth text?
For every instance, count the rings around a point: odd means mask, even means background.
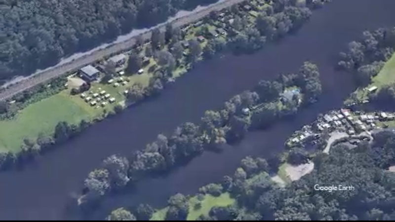
[[[208,190],[214,196],[230,192],[237,203],[213,207],[199,220],[394,220],[395,173],[388,168],[395,163],[395,134],[381,131],[373,137],[372,144],[363,142],[352,149],[338,144],[330,154],[317,153],[313,172],[285,187],[270,177],[277,169],[276,164],[271,164],[273,161],[246,157],[234,175],[199,190]],[[318,190],[315,185],[354,188],[328,191]],[[186,219],[189,208],[184,195],[170,197],[168,207],[166,220]],[[150,206],[140,205],[138,210],[132,209],[138,219],[143,219],[142,209],[152,215]],[[121,208],[113,211],[108,220],[130,218],[133,214]]]

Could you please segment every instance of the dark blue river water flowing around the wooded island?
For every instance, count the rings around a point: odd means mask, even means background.
[[[205,110],[219,108],[258,80],[295,72],[303,61],[311,60],[318,65],[323,83],[318,103],[301,110],[293,120],[248,133],[242,142],[227,146],[222,153],[205,152],[166,176],[143,180],[130,192],[106,198],[89,219],[102,219],[114,207],[140,202],[160,207],[176,192],[193,194],[200,186],[232,174],[246,155],[269,157],[281,151],[294,130],[320,112],[341,107],[355,86],[348,74],[334,71],[338,53],[366,29],[395,25],[394,9],[395,0],[333,0],[316,10],[296,34],[279,43],[253,55],[227,55],[199,64],[158,99],[90,127],[23,170],[0,173],[0,219],[78,219],[80,216],[68,210],[68,203],[103,158],[144,148],[158,133],[170,134],[185,121],[197,122]]]

